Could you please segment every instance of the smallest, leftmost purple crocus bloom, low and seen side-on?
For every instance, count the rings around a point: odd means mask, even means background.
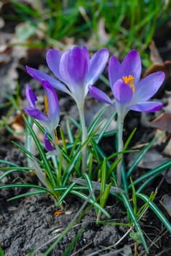
[[[28,99],[30,106],[25,107],[24,110],[25,113],[38,120],[39,123],[45,128],[44,146],[48,151],[52,151],[54,150],[52,143],[56,143],[57,140],[56,128],[60,121],[60,109],[55,89],[50,85],[49,82],[45,80],[41,80],[41,83],[46,93],[44,97],[44,107],[46,113],[42,113],[41,110],[36,108],[36,95],[28,85],[25,88],[25,96]],[[49,132],[54,140],[52,143],[50,143],[47,138],[47,132]]]

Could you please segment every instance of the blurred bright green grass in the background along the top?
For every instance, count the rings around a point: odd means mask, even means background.
[[[25,21],[17,31],[21,42],[41,32],[42,45],[60,46],[66,37],[92,40],[93,48],[109,47],[124,55],[130,48],[143,53],[154,32],[170,13],[170,1],[36,1],[26,5],[12,1],[17,16]],[[27,28],[27,29],[26,29]],[[42,39],[41,38],[41,39]]]

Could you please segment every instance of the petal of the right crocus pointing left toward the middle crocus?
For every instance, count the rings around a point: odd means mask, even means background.
[[[89,86],[89,92],[95,99],[100,100],[100,102],[105,102],[108,105],[112,105],[114,107],[114,104],[111,102],[111,99],[106,95],[103,91],[99,90],[95,86]]]

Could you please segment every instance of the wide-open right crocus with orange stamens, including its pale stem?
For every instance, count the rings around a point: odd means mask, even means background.
[[[156,94],[164,81],[164,72],[155,72],[140,80],[141,61],[136,50],[130,51],[120,63],[112,56],[109,61],[108,77],[111,91],[114,94],[115,103],[103,91],[90,86],[92,97],[108,105],[114,106],[118,114],[118,150],[123,150],[122,131],[124,118],[129,110],[140,112],[154,112],[162,108],[162,102],[148,101]],[[122,162],[117,168],[117,184],[121,186]]]

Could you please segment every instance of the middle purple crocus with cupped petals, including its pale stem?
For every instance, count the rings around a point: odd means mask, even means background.
[[[88,86],[93,85],[100,77],[108,61],[108,50],[98,50],[90,59],[85,46],[73,46],[70,50],[61,53],[59,50],[47,51],[47,65],[58,80],[31,67],[27,72],[40,82],[47,80],[53,87],[71,95],[76,101],[82,127],[82,143],[87,140],[87,128],[84,118],[84,99],[87,96]],[[86,168],[87,149],[82,151],[82,170]]]

